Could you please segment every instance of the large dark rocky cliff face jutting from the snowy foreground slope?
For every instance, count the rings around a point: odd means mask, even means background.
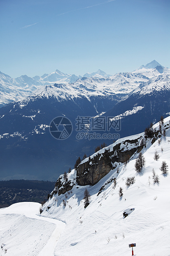
[[[82,161],[77,167],[78,185],[95,185],[111,169],[116,168],[119,163],[128,162],[130,157],[139,153],[144,145],[140,145],[142,136],[134,140],[125,140],[119,142],[113,147],[101,149],[98,153]],[[111,145],[112,146],[112,145]]]

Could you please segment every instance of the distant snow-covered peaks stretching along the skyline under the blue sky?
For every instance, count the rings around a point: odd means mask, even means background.
[[[90,94],[90,95],[111,95],[111,94],[128,94],[135,90],[141,83],[147,82],[151,78],[156,78],[161,73],[170,73],[170,69],[162,68],[160,71],[156,69],[158,62],[153,61],[146,66],[142,66],[133,72],[117,73],[115,75],[106,74],[100,69],[93,73],[86,73],[83,77],[62,73],[59,70],[51,74],[44,74],[43,76],[35,76],[30,78],[26,75],[19,78],[11,78],[8,75],[0,72],[0,104],[1,106],[17,100],[35,95],[36,92],[44,91],[45,86],[54,85],[54,83],[62,84],[64,95]],[[38,89],[38,90],[37,90]],[[56,95],[56,89],[54,94]],[[37,90],[37,91],[36,91]],[[45,93],[45,92],[44,92]],[[58,90],[58,97],[62,96],[61,91]],[[47,94],[47,93],[46,93]]]

